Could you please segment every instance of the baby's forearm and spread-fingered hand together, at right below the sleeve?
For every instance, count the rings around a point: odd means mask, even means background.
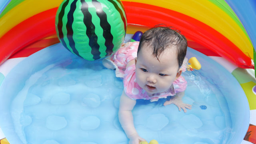
[[[182,110],[184,112],[187,112],[186,108],[191,110],[191,105],[190,104],[185,104],[182,101],[182,97],[184,96],[185,92],[179,92],[177,93],[175,96],[172,96],[170,100],[166,100],[166,102],[164,102],[164,106],[168,105],[168,104],[175,104],[178,108],[179,111]]]

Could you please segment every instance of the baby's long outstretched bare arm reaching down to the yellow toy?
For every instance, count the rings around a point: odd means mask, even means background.
[[[136,100],[130,99],[123,91],[120,98],[118,117],[126,136],[130,139],[129,144],[139,144],[140,141],[146,141],[140,138],[134,127],[132,109],[135,104]]]

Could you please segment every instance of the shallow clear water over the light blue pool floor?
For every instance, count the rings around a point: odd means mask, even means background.
[[[74,56],[61,44],[25,60],[0,89],[11,98],[6,123],[15,131],[15,144],[128,144],[118,121],[122,80],[114,71],[101,61]],[[166,99],[137,100],[133,115],[140,136],[159,144],[226,144],[232,120],[220,87],[225,76],[210,78],[214,72],[182,74],[188,81],[183,101],[192,104],[187,113],[163,106]]]

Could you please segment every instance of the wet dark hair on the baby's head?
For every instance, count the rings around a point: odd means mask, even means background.
[[[179,68],[182,66],[188,46],[185,36],[180,34],[180,31],[176,30],[176,28],[159,25],[144,32],[140,39],[137,55],[144,44],[152,48],[153,55],[157,59],[166,48],[171,45],[175,46]]]

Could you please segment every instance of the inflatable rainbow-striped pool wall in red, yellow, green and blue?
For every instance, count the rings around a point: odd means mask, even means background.
[[[62,0],[1,0],[0,84],[24,57],[59,42],[55,15]],[[174,26],[188,46],[206,54],[236,77],[248,98],[250,127],[242,144],[256,143],[254,48],[255,0],[122,0],[128,34],[156,24]],[[250,134],[250,136],[249,136]],[[8,144],[0,132],[0,144]],[[2,139],[2,140],[1,140]]]

